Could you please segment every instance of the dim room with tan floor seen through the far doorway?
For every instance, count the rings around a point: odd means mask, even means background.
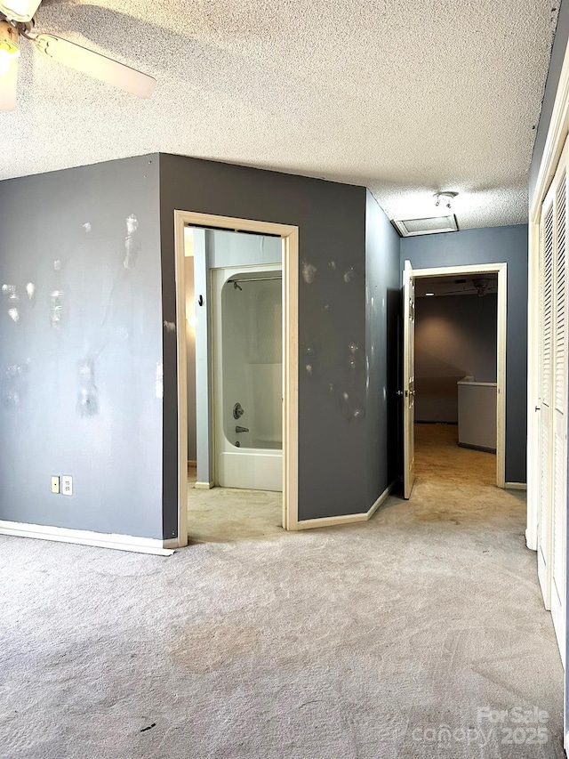
[[[498,275],[415,283],[415,470],[496,484]]]

